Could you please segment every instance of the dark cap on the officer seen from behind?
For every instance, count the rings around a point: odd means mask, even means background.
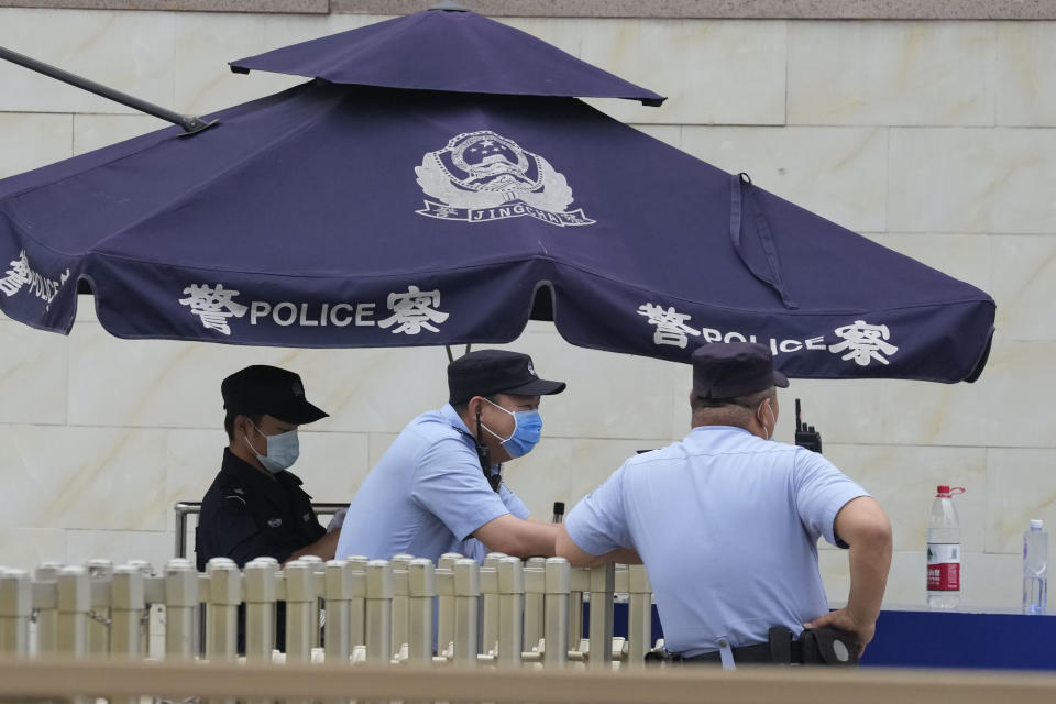
[[[788,385],[770,350],[756,342],[712,342],[693,352],[693,394],[701,398],[737,398]]]

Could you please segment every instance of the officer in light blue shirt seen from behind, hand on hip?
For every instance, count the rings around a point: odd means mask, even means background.
[[[788,385],[763,345],[703,345],[693,354],[690,435],[628,460],[572,509],[558,537],[558,554],[573,564],[640,559],[666,647],[682,659],[802,661],[807,648],[792,639],[804,626],[850,634],[837,660],[855,660],[872,639],[891,526],[821,454],[772,441],[776,386]],[[849,547],[850,595],[832,613],[818,538]]]

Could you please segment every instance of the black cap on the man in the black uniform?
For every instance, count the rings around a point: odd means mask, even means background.
[[[266,364],[235,372],[220,384],[223,407],[242,415],[266,414],[283,422],[302,426],[327,418],[305,398],[300,375]]]

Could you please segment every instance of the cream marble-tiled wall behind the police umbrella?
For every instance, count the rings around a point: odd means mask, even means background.
[[[0,45],[201,113],[297,82],[226,62],[378,19],[0,8]],[[967,488],[965,603],[1014,607],[1021,531],[1056,525],[1056,23],[504,21],[670,96],[601,109],[991,293],[978,383],[795,382],[784,398],[803,399],[826,454],[891,515],[889,604],[923,603],[927,510],[949,483]],[[0,88],[0,176],[162,124],[12,65]],[[539,515],[688,429],[688,367],[573,348],[549,323],[512,346],[571,382],[543,403],[547,440],[508,468]],[[444,398],[440,349],[124,341],[87,300],[68,338],[0,318],[0,563],[172,557],[172,504],[200,497],[224,443],[220,380],[255,362],[298,371],[332,415],[304,433],[297,466],[317,501],[351,498]],[[825,549],[823,566],[843,601],[845,554]]]

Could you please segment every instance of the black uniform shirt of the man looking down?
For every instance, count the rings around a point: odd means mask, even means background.
[[[240,568],[254,558],[284,562],[326,535],[301,481],[289,472],[273,476],[223,451],[220,473],[201,499],[195,535],[199,571],[211,558],[230,558]]]

